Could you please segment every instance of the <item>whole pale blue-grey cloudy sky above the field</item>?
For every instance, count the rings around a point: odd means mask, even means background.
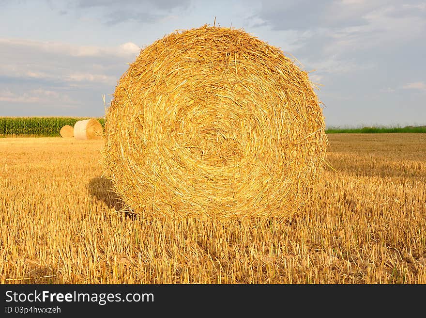
[[[416,0],[0,0],[0,116],[103,116],[140,48],[214,17],[297,58],[327,126],[426,125]]]

